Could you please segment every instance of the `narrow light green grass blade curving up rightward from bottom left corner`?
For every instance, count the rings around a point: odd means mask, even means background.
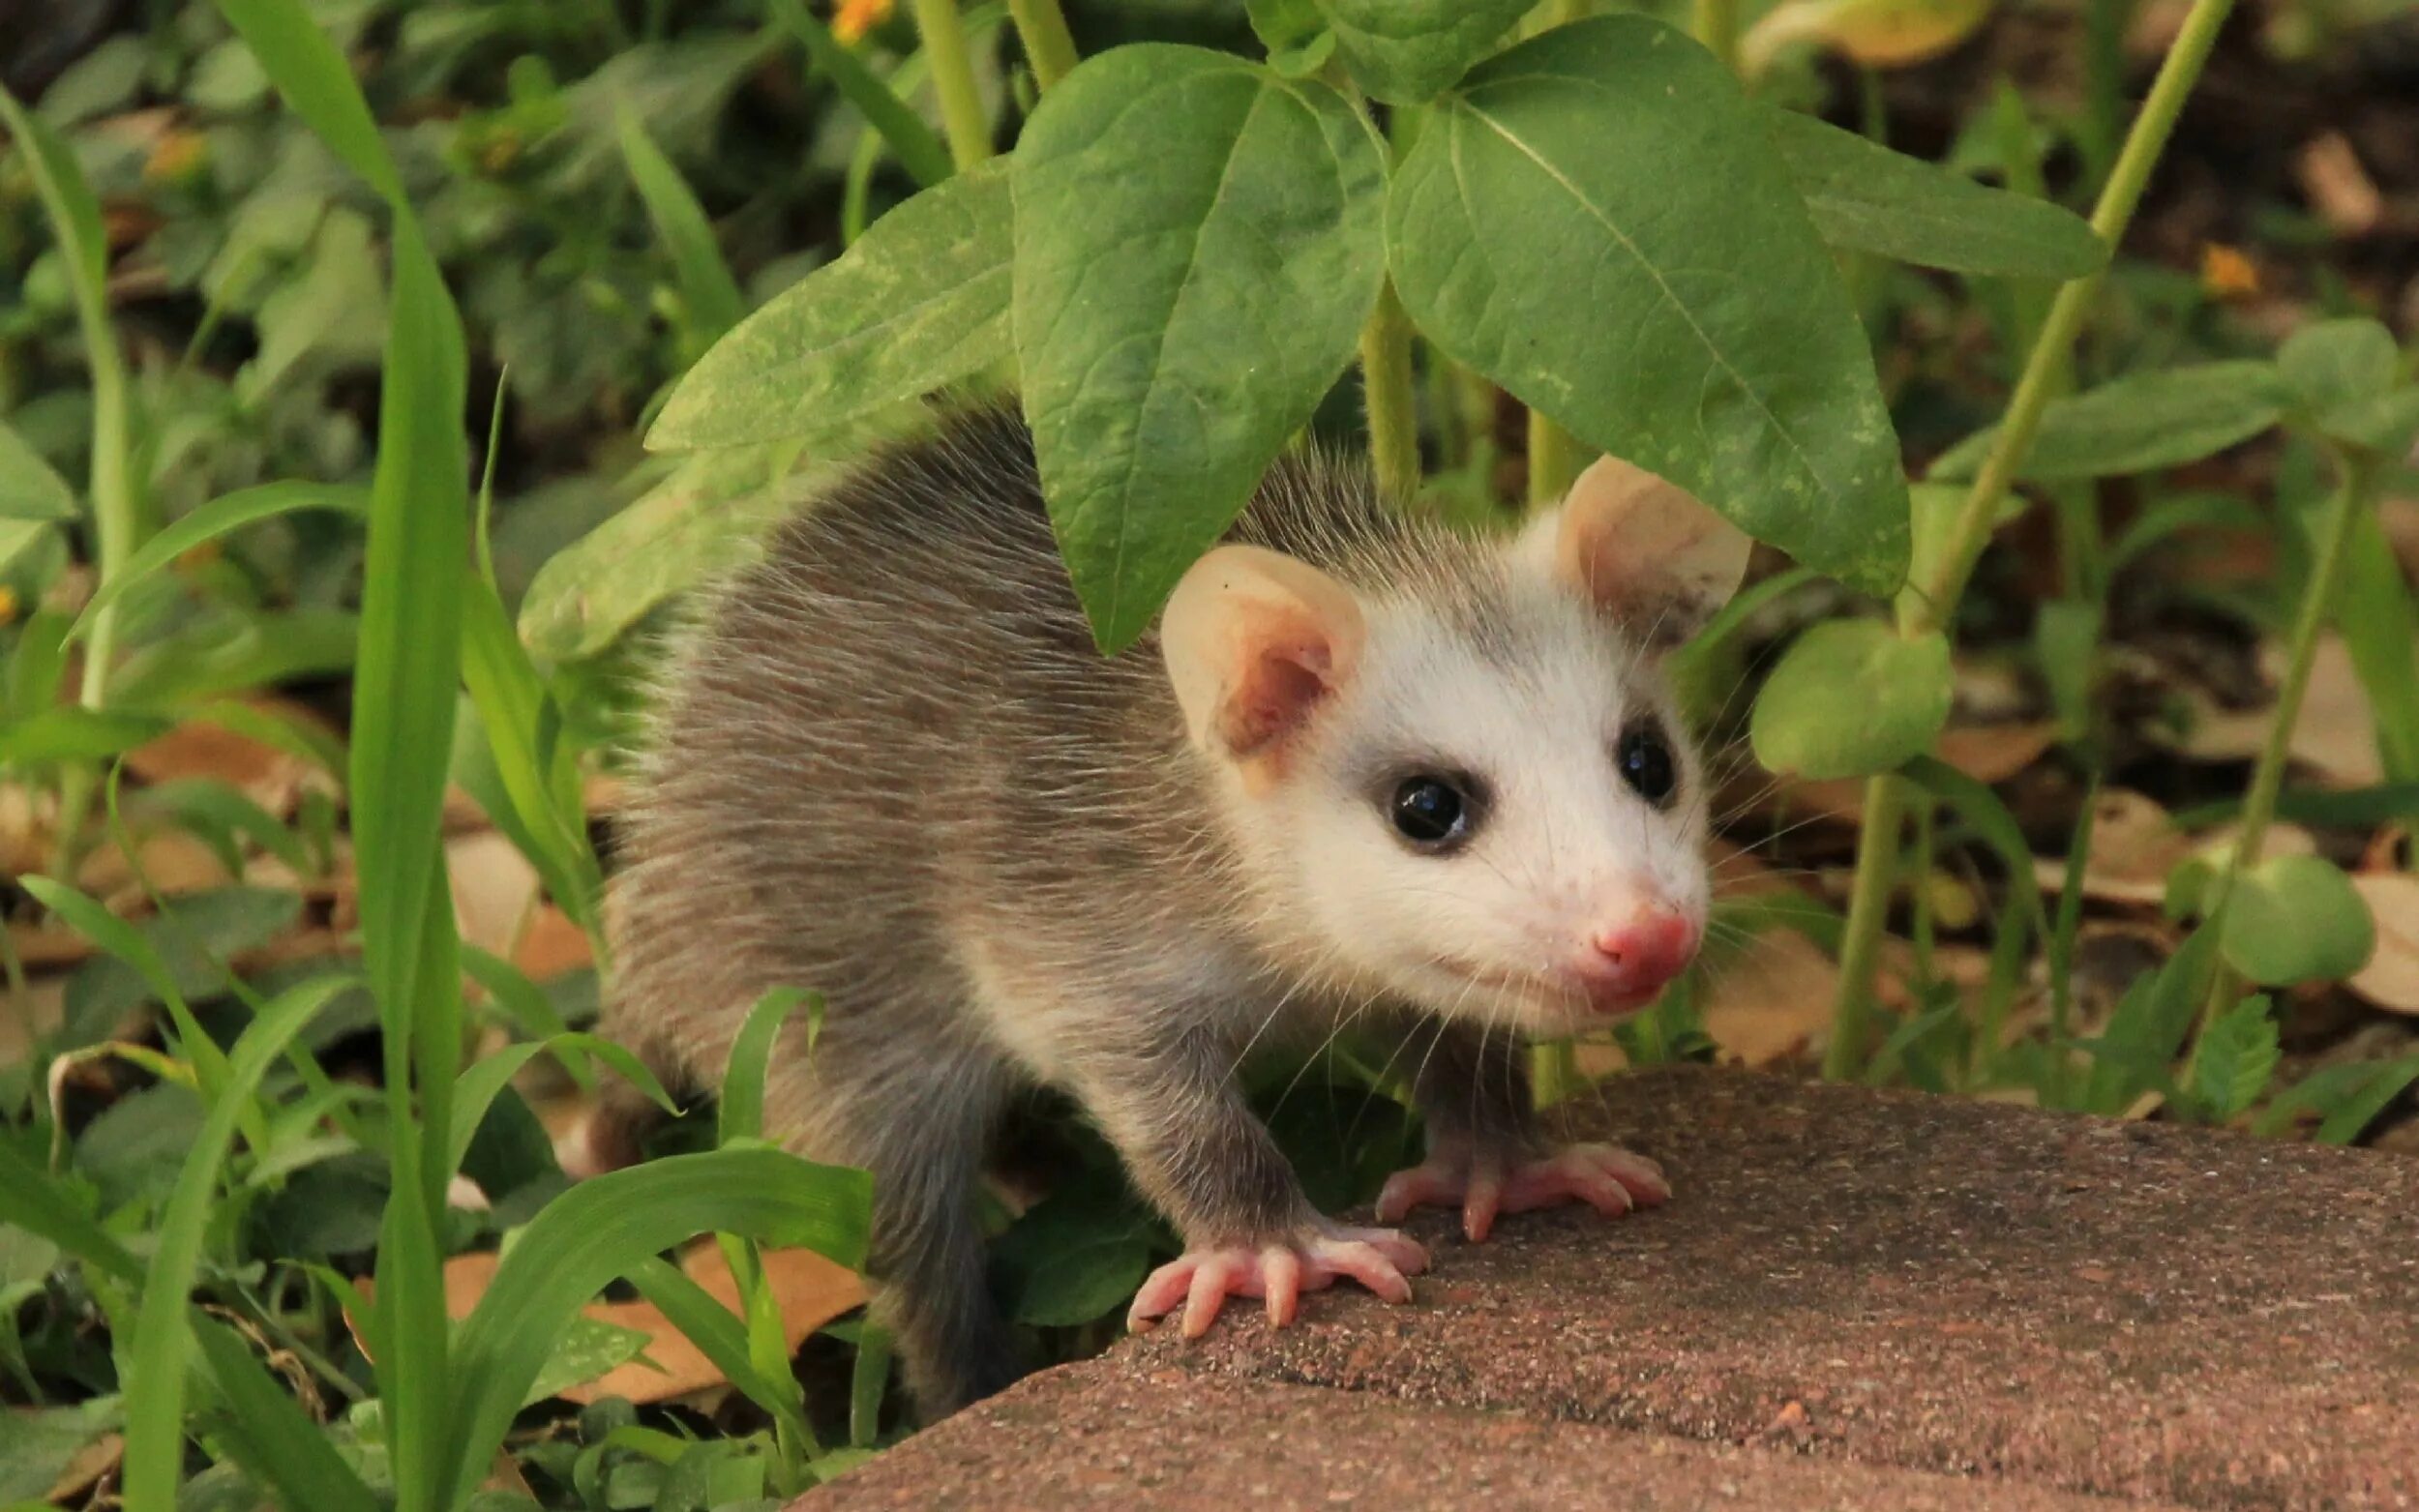
[[[131,1512],[174,1512],[177,1485],[184,1478],[184,1386],[186,1355],[194,1343],[189,1297],[201,1268],[201,1243],[218,1198],[220,1168],[235,1142],[235,1118],[252,1101],[269,1062],[285,1043],[336,997],[343,977],[322,977],[278,994],[235,1043],[227,1086],[201,1120],[194,1149],[177,1171],[167,1210],[160,1217],[157,1248],[143,1272],[143,1304],[135,1316],[133,1347],[126,1369],[126,1507]]]

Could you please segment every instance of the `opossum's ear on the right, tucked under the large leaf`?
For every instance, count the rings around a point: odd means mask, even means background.
[[[1676,646],[1739,590],[1754,542],[1693,494],[1604,457],[1522,549],[1650,644]]]

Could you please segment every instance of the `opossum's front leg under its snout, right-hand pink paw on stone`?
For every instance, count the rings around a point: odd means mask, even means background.
[[[1519,1035],[1466,1023],[1437,1028],[1434,1052],[1413,1081],[1427,1120],[1427,1159],[1386,1181],[1379,1222],[1398,1222],[1422,1205],[1459,1205],[1461,1231],[1478,1241],[1502,1212],[1587,1202],[1618,1217],[1672,1195],[1662,1168],[1640,1154],[1611,1144],[1548,1152],[1524,1055]]]

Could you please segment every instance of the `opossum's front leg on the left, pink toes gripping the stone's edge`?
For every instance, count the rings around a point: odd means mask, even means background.
[[[1289,1323],[1301,1292],[1350,1277],[1386,1302],[1410,1299],[1427,1251],[1391,1229],[1345,1229],[1301,1195],[1294,1168],[1234,1089],[1234,1055],[1212,1035],[1159,1048],[1093,1048],[1076,1091],[1142,1190],[1176,1222],[1185,1253],[1161,1265],[1127,1314],[1139,1326],[1185,1304],[1200,1335],[1226,1297],[1265,1297]]]

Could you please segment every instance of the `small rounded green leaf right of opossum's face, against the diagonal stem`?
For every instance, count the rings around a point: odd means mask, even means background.
[[[1763,680],[1749,743],[1768,772],[1870,777],[1926,755],[1950,721],[1950,644],[1877,619],[1807,629]]]

